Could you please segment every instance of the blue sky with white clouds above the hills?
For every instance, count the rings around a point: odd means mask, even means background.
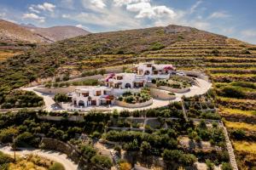
[[[0,0],[0,18],[91,32],[170,24],[256,44],[255,0]]]

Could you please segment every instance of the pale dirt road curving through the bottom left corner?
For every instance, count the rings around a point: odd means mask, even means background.
[[[10,146],[0,146],[0,151],[5,154],[14,155],[14,151],[11,150]],[[45,157],[52,161],[60,162],[66,170],[77,170],[78,165],[71,161],[66,154],[63,154],[54,150],[36,150],[36,149],[21,149],[16,151],[19,156],[25,156],[29,154]]]

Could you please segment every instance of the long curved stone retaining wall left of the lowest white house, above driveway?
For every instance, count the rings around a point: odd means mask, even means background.
[[[78,86],[69,86],[67,88],[34,88],[36,92],[42,94],[67,94],[73,92]]]

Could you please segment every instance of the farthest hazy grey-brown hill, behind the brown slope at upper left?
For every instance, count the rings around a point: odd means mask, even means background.
[[[49,39],[51,42],[56,42],[71,37],[83,36],[90,33],[89,31],[84,31],[84,29],[76,26],[53,26],[49,28],[39,28],[35,26],[24,27],[29,31]]]

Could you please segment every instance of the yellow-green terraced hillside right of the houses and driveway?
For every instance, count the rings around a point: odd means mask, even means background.
[[[206,71],[214,82],[239,168],[256,167],[256,46],[235,39],[177,42],[148,52],[144,59]]]

